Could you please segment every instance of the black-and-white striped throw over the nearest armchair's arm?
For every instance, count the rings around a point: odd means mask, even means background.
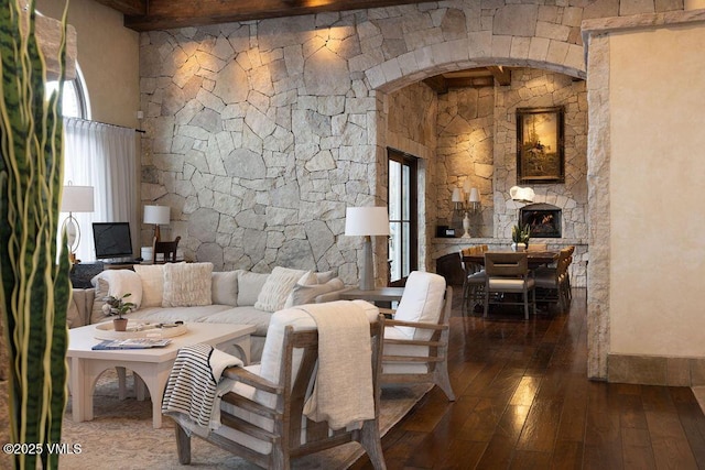
[[[225,369],[234,365],[241,367],[242,361],[210,345],[181,348],[164,391],[162,414],[199,435],[217,429],[220,396],[231,386],[231,381],[220,381],[220,376]]]

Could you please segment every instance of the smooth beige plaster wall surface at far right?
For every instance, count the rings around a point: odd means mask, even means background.
[[[610,41],[611,352],[704,357],[705,28]]]

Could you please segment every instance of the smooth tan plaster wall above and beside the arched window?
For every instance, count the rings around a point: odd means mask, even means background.
[[[61,19],[64,1],[36,0],[42,14]],[[76,28],[78,65],[84,73],[91,119],[137,128],[140,109],[139,33],[122,14],[93,0],[70,0],[68,23]]]

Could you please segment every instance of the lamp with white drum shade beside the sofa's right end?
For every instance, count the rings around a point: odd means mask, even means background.
[[[372,236],[389,236],[389,216],[386,207],[348,207],[345,214],[345,234],[365,237],[360,291],[375,288]]]

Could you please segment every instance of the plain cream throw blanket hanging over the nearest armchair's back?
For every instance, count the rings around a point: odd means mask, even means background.
[[[318,328],[318,372],[304,414],[332,429],[375,418],[370,323],[350,302],[304,305]]]

